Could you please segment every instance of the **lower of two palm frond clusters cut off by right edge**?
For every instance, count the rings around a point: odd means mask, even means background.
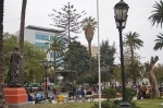
[[[153,47],[154,50],[161,50],[163,47],[163,34],[160,33],[160,35],[156,35],[158,39],[155,39],[155,46]]]

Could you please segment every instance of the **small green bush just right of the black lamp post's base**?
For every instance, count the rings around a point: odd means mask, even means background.
[[[130,103],[133,97],[136,96],[137,91],[130,87],[126,87],[126,96],[128,98],[128,101]]]

